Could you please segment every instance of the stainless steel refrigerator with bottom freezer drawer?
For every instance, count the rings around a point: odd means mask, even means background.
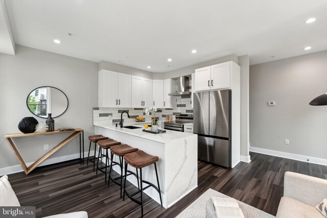
[[[196,92],[193,101],[198,159],[230,167],[231,90]]]

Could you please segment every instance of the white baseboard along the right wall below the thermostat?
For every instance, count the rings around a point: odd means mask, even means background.
[[[299,160],[303,162],[316,163],[316,164],[327,166],[327,159],[322,159],[322,158],[309,157],[309,156],[303,156],[298,154],[291,154],[286,152],[279,152],[279,151],[273,151],[268,149],[255,148],[255,147],[250,147],[250,152],[268,154],[276,157],[284,157],[292,160]]]

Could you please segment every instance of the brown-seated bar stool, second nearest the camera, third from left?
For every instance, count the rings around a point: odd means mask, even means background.
[[[137,152],[138,151],[138,149],[137,148],[133,148],[133,147],[130,147],[128,144],[122,144],[121,146],[112,146],[111,148],[110,148],[110,151],[111,151],[111,163],[110,163],[110,169],[109,169],[109,178],[108,178],[108,186],[109,186],[109,183],[110,183],[110,179],[114,182],[114,183],[116,183],[116,184],[118,184],[118,185],[120,185],[121,186],[121,198],[122,198],[122,190],[123,190],[123,162],[124,162],[124,156],[126,155],[126,154],[129,154],[129,153],[132,153],[132,152]],[[120,162],[120,167],[121,167],[121,176],[119,176],[119,177],[116,177],[116,178],[112,178],[111,177],[111,171],[112,171],[112,160],[113,160],[113,155],[116,155],[116,156],[118,156],[119,157],[119,162]],[[137,186],[139,187],[139,183],[138,183],[138,174],[137,175],[135,175],[135,173],[133,173],[133,172],[131,172],[131,171],[127,171],[129,174],[127,174],[127,175],[125,175],[125,177],[127,177],[127,176],[129,176],[129,175],[134,175],[134,176],[136,176],[136,178],[137,178]],[[137,173],[137,171],[136,171],[136,173]],[[119,182],[117,182],[117,181],[115,181],[115,180],[117,180],[117,179],[121,179],[121,182],[119,183]]]

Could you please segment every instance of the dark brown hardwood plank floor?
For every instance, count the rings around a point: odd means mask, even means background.
[[[264,210],[277,212],[283,196],[284,173],[297,172],[327,179],[327,166],[251,153],[251,162],[240,162],[225,169],[198,162],[198,187],[169,209],[145,195],[145,217],[174,217],[208,188]],[[37,217],[79,210],[89,217],[138,217],[139,206],[120,199],[120,187],[104,184],[104,174],[96,175],[92,165],[73,165],[26,176],[24,172],[9,175],[9,181],[21,205],[36,206]],[[136,190],[131,184],[128,189]]]

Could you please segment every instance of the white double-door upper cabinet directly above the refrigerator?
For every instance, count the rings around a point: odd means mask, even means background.
[[[235,64],[229,61],[196,69],[195,91],[231,88],[232,66]]]

